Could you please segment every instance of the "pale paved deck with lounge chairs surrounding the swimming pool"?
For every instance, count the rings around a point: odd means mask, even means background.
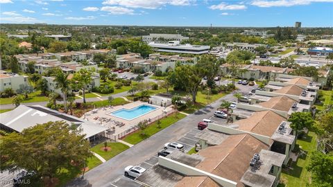
[[[156,109],[151,112],[148,112],[147,114],[134,118],[131,121],[128,121],[124,118],[118,118],[117,116],[111,116],[109,114],[110,112],[114,112],[119,109],[132,109],[134,107],[138,107],[139,105],[148,105],[151,107],[156,107]],[[93,109],[92,111],[87,112],[81,118],[87,121],[92,121],[94,123],[101,124],[104,127],[109,127],[109,128],[115,127],[115,131],[112,132],[112,134],[116,135],[125,132],[131,127],[137,125],[140,121],[153,119],[156,116],[160,116],[161,114],[167,113],[171,110],[172,110],[171,106],[164,108],[157,105],[151,105],[142,101],[135,101],[133,103],[128,103],[126,105],[119,105],[115,107],[101,107],[98,109]],[[119,125],[116,125],[115,121],[119,123],[124,123],[125,125],[119,127]]]

